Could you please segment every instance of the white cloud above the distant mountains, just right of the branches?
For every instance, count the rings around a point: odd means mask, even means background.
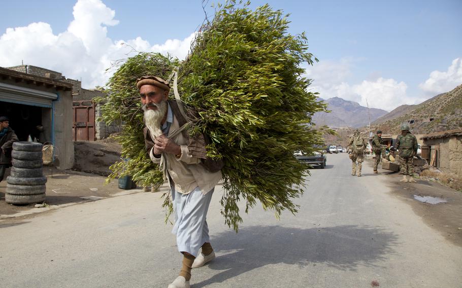
[[[352,75],[352,66],[359,60],[342,58],[340,61],[321,61],[313,67],[307,67],[306,76],[314,80],[310,91],[319,92],[319,96],[324,99],[341,97],[362,106],[366,106],[368,102],[369,107],[386,111],[402,104],[415,104],[423,100],[409,97],[406,83],[394,79],[376,76],[359,84],[350,84],[348,80]]]

